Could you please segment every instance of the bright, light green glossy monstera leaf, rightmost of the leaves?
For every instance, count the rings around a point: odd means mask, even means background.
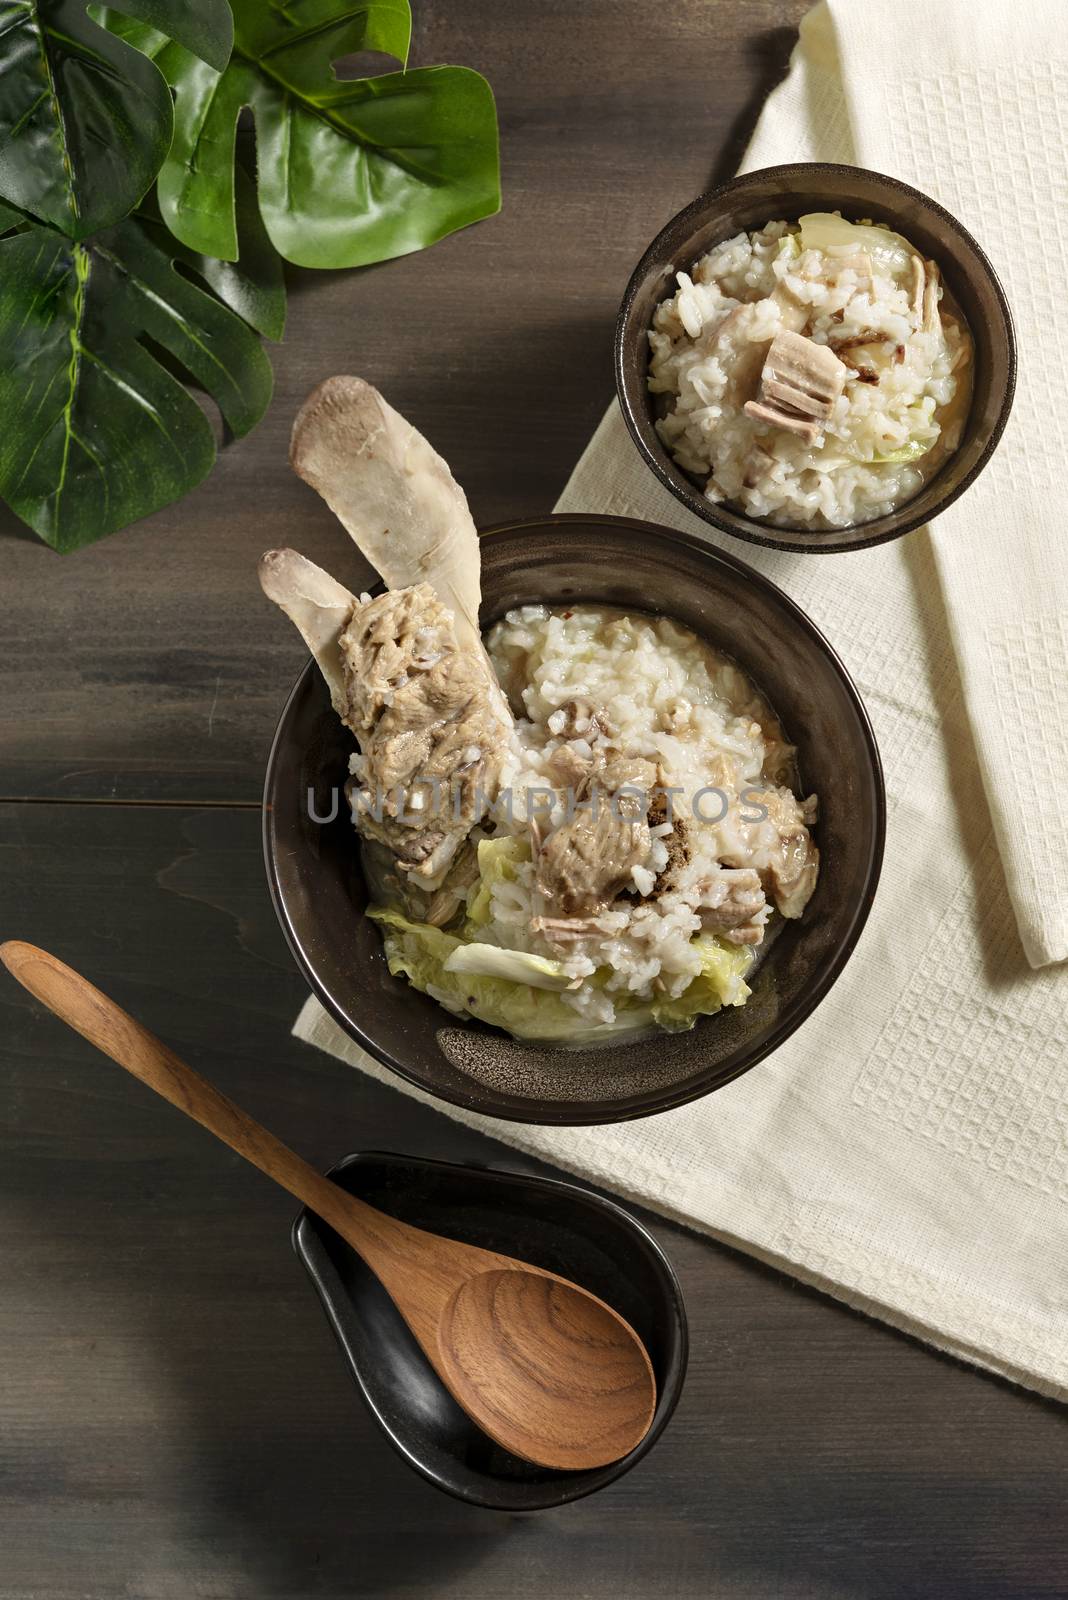
[[[409,30],[408,0],[233,0],[225,72],[137,35],[176,96],[158,184],[176,238],[235,258],[233,150],[245,106],[256,122],[264,224],[297,266],[366,266],[497,211],[497,118],[478,72],[419,67],[342,80],[331,66],[360,50],[403,62]]]

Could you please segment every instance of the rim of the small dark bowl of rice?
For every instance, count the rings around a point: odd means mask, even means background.
[[[627,330],[630,326],[630,312],[633,301],[649,269],[660,262],[660,258],[664,254],[662,240],[665,238],[667,234],[671,234],[681,222],[695,224],[713,202],[724,198],[724,195],[750,189],[756,186],[756,182],[766,181],[769,174],[787,176],[793,173],[809,173],[819,176],[820,173],[843,173],[843,171],[857,173],[860,178],[871,179],[873,182],[883,184],[891,190],[897,190],[902,195],[908,195],[910,200],[918,200],[940,222],[950,227],[961,238],[964,246],[975,258],[980,272],[983,272],[986,280],[990,282],[994,299],[998,301],[1006,334],[1007,378],[1006,378],[1004,395],[1001,398],[1001,406],[998,410],[998,418],[990,430],[990,437],[986,438],[983,450],[972,462],[972,467],[969,469],[969,472],[966,472],[961,482],[956,483],[953,490],[945,493],[937,501],[935,506],[929,507],[926,512],[913,512],[910,515],[908,501],[905,501],[905,504],[902,506],[903,515],[899,526],[887,528],[883,533],[871,534],[870,538],[851,539],[849,544],[790,544],[785,539],[775,538],[775,530],[772,528],[771,523],[767,525],[767,533],[764,533],[761,531],[764,525],[756,522],[755,518],[747,518],[745,528],[740,528],[735,523],[727,522],[727,518],[718,512],[718,507],[711,501],[705,499],[705,496],[695,485],[691,499],[683,491],[683,488],[675,482],[665,464],[665,459],[660,458],[660,454],[652,448],[652,445],[646,437],[648,418],[644,414],[640,416],[636,413],[636,406],[632,406],[630,403],[630,397],[627,394],[627,378],[630,376],[632,368],[630,363],[624,360],[624,344]],[[735,178],[729,178],[726,182],[718,184],[715,189],[708,189],[703,194],[699,194],[694,200],[684,205],[681,211],[676,211],[675,216],[664,224],[656,238],[643,251],[638,266],[627,280],[627,288],[624,290],[624,298],[620,301],[620,307],[616,317],[616,333],[612,336],[612,366],[616,371],[616,397],[620,411],[624,413],[624,422],[627,424],[627,432],[638,446],[646,466],[652,469],[660,483],[664,483],[664,486],[670,490],[675,499],[681,506],[686,506],[689,512],[692,512],[695,517],[702,517],[707,523],[710,523],[713,528],[718,528],[721,533],[729,533],[734,539],[742,539],[747,544],[758,544],[771,550],[788,550],[791,555],[849,555],[852,550],[870,550],[873,549],[873,546],[889,544],[892,539],[902,539],[907,533],[913,533],[916,528],[923,528],[926,523],[934,522],[935,517],[940,517],[942,512],[946,510],[946,507],[950,507],[956,499],[961,498],[961,494],[964,494],[967,488],[972,486],[978,474],[990,462],[990,458],[998,448],[1001,435],[1006,430],[1006,424],[1009,422],[1009,414],[1012,411],[1012,402],[1017,387],[1018,357],[1017,357],[1015,323],[1012,320],[1012,307],[1009,306],[1009,299],[1002,288],[1001,278],[998,277],[990,261],[990,256],[986,254],[983,246],[964,227],[964,224],[953,216],[951,211],[946,211],[946,208],[940,205],[937,200],[932,200],[931,195],[923,192],[923,189],[915,189],[903,179],[891,178],[889,173],[879,173],[871,166],[855,166],[851,162],[782,162],[775,166],[759,166],[750,173],[739,173]],[[889,515],[894,514],[891,512]],[[863,528],[863,523],[849,523],[847,528],[843,531],[847,531],[849,528]],[[831,530],[811,530],[804,526],[796,526],[796,528],[791,526],[783,531],[812,533],[812,531],[831,531]]]

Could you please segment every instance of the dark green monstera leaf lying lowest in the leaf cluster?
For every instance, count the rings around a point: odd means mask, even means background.
[[[0,240],[0,494],[58,550],[147,517],[211,470],[211,422],[174,368],[233,434],[270,400],[270,363],[230,309],[245,298],[277,323],[270,291],[232,269],[216,283],[224,304],[187,277],[197,258],[161,242],[133,218],[88,245],[40,224]]]

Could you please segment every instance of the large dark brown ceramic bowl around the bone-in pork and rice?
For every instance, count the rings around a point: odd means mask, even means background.
[[[657,611],[732,656],[798,746],[803,792],[820,797],[823,869],[745,1006],[596,1050],[520,1043],[460,1022],[392,978],[363,917],[360,850],[344,805],[352,736],[313,662],[297,678],[267,763],[264,851],[275,909],[307,981],[341,1027],[428,1094],[510,1122],[624,1122],[681,1106],[775,1050],[831,987],[871,907],[886,798],[863,704],[823,635],[774,584],[703,539],[622,517],[545,517],[481,538],[483,626],[512,606],[574,600]],[[309,795],[313,805],[309,806]],[[313,814],[312,814],[313,813]]]

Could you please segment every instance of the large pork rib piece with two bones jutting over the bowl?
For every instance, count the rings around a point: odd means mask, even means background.
[[[264,590],[301,629],[360,741],[357,826],[433,888],[496,800],[512,736],[478,630],[467,499],[427,440],[360,378],[329,378],[309,395],[289,459],[390,592],[361,605],[294,550],[264,557]]]

